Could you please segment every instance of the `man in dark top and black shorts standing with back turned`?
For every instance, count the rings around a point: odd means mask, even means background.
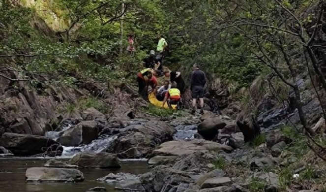
[[[206,84],[206,75],[199,69],[198,64],[193,65],[194,71],[191,74],[191,96],[192,96],[192,113],[196,112],[196,99],[200,101],[200,112],[204,113],[204,86]]]

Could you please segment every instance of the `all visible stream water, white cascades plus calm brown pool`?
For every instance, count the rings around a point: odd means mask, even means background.
[[[70,122],[61,126],[56,131],[46,132],[46,136],[57,139],[59,134],[71,128]],[[179,125],[175,127],[177,132],[173,136],[174,140],[191,140],[197,138],[197,125]],[[78,147],[64,147],[60,160],[70,159],[81,151],[99,153],[105,151],[105,147],[117,138],[116,135],[101,135],[88,145]],[[83,172],[85,180],[77,183],[26,183],[25,172],[30,167],[42,167],[49,158],[0,158],[0,192],[86,192],[90,188],[105,187],[108,192],[114,191],[114,186],[99,183],[95,180],[104,177],[109,173],[126,172],[131,174],[143,174],[150,171],[146,160],[121,160],[120,169],[96,169],[88,168],[80,170]]]

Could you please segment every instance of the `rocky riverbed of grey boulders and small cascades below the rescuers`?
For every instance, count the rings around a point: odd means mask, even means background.
[[[12,95],[7,92],[2,96],[9,99]],[[45,99],[25,90],[0,106],[4,114],[0,122],[0,155],[47,158],[42,163],[16,167],[20,176],[24,174],[19,181],[26,181],[26,186],[40,182],[83,186],[91,181],[91,185],[78,190],[89,191],[103,184],[111,191],[138,192],[325,189],[325,163],[307,147],[307,138],[288,126],[290,121],[295,125],[298,122],[296,110],[290,105],[268,105],[270,99],[263,99],[256,118],[238,113],[236,103],[220,111],[221,115],[209,111],[191,115],[187,110],[153,108],[132,93],[116,91],[112,95],[98,84],[85,83],[83,90],[57,89],[49,93]],[[104,114],[89,106],[61,117],[55,115],[55,98],[90,93],[111,104],[110,111]],[[305,112],[314,108],[309,125],[325,132],[320,108],[314,107],[315,98],[303,101]],[[26,113],[13,112],[9,103]],[[321,134],[320,141],[323,139]],[[325,155],[324,151],[319,153]],[[145,171],[125,169],[124,160],[135,159],[146,160],[141,164]],[[1,164],[2,178],[10,172],[6,166]],[[101,171],[89,177],[89,170]],[[8,191],[9,184],[4,185]]]

